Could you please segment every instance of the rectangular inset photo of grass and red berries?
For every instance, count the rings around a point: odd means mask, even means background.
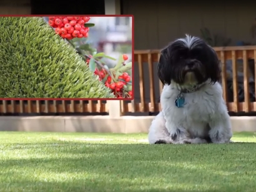
[[[1,16],[0,98],[133,99],[132,16]]]

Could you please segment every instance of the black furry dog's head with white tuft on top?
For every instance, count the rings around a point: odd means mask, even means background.
[[[168,85],[197,85],[209,79],[214,84],[220,78],[215,50],[199,37],[188,35],[162,50],[157,70],[159,79]]]

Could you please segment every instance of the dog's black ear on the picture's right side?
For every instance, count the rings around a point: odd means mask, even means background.
[[[220,80],[221,69],[218,55],[212,47],[210,47],[209,52],[209,64],[207,69],[208,77],[210,78],[210,82],[215,84],[215,82]]]

